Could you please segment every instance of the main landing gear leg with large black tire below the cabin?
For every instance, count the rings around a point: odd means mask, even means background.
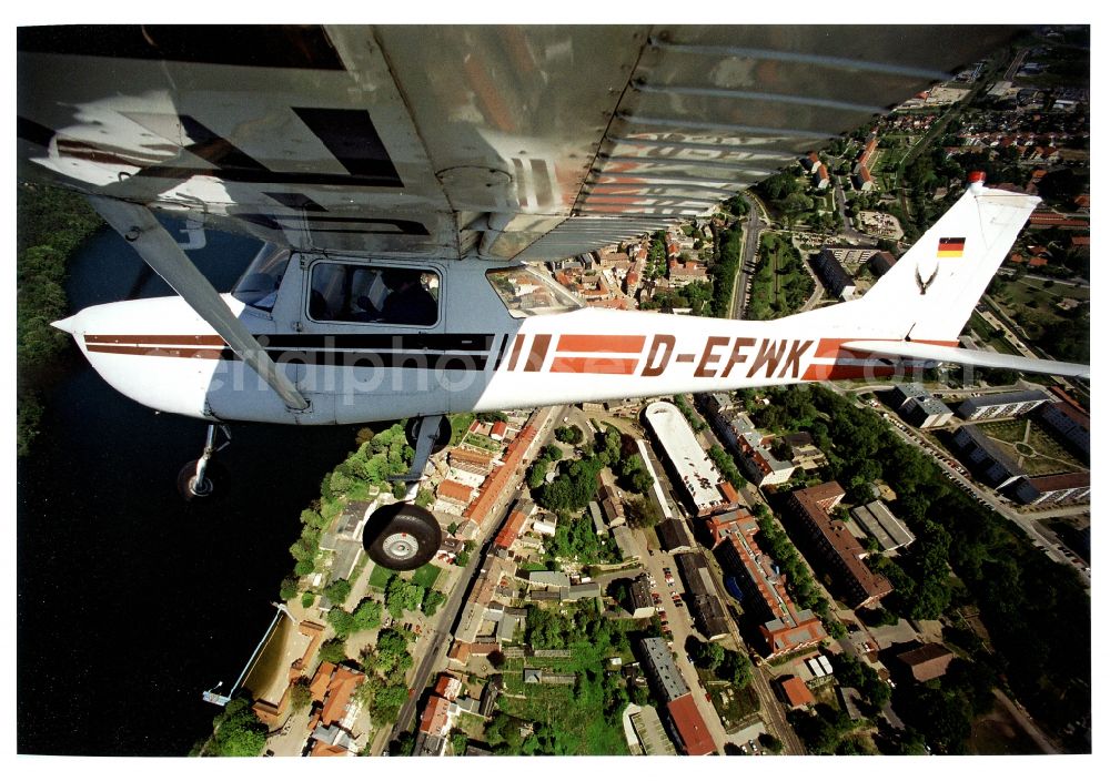
[[[416,450],[412,468],[394,480],[408,485],[404,501],[374,510],[366,521],[362,545],[376,564],[389,569],[416,569],[432,560],[443,532],[428,510],[411,504],[420,491],[424,468],[433,453],[451,440],[451,424],[443,415],[428,415],[410,424],[405,433]]]

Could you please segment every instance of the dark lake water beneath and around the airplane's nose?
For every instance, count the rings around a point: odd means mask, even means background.
[[[228,290],[258,244],[209,232],[191,253]],[[114,233],[71,266],[73,311],[169,288]],[[180,755],[218,713],[201,692],[239,674],[291,571],[302,508],[354,429],[232,426],[210,504],[176,494],[200,420],[157,415],[74,348],[59,361],[32,454],[18,463],[17,748]]]

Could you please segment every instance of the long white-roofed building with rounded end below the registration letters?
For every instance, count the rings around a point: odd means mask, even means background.
[[[707,515],[724,506],[727,500],[720,491],[720,473],[698,444],[678,407],[668,402],[655,402],[644,410],[644,417],[697,515]]]

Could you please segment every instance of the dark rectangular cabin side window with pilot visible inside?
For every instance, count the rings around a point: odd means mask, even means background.
[[[316,263],[309,288],[309,317],[341,323],[435,325],[440,275],[427,268]]]

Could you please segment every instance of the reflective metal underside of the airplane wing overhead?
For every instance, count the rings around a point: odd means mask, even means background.
[[[322,252],[573,256],[712,213],[1003,27],[39,27],[21,173]]]

